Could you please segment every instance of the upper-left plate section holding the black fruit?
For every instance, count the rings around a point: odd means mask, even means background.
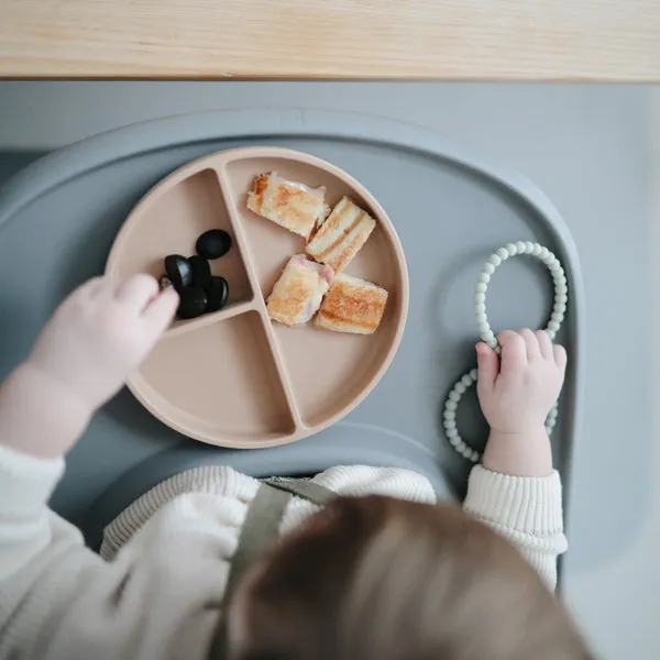
[[[108,271],[122,279],[135,273],[161,277],[165,256],[195,254],[198,237],[209,229],[223,229],[232,237],[232,249],[209,262],[212,274],[229,283],[229,302],[218,312],[175,320],[168,333],[204,327],[253,307],[252,287],[216,170],[175,173],[165,179],[131,213],[110,253]]]

